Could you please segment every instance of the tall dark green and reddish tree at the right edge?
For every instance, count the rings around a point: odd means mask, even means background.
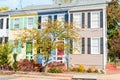
[[[108,34],[108,58],[115,60],[119,53],[119,25],[120,22],[120,5],[117,0],[112,0],[107,7],[107,34]],[[115,42],[117,40],[117,42]],[[116,45],[116,46],[115,46]]]

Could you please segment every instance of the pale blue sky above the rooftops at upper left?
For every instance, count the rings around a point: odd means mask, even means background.
[[[52,0],[21,0],[22,7],[28,5],[52,4]],[[21,8],[20,0],[0,0],[0,7],[8,6],[10,9]]]

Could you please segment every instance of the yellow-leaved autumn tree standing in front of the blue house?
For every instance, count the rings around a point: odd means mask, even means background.
[[[41,30],[22,30],[18,39],[20,39],[24,43],[34,41],[34,49],[45,58],[45,71],[47,72],[47,65],[49,58],[51,57],[51,51],[55,50],[56,48],[62,49],[64,47],[67,50],[67,54],[69,54],[69,40],[79,38],[80,31],[78,28],[74,27],[73,24],[68,24],[65,21],[46,21],[45,23],[40,25],[44,26],[44,28]],[[57,39],[65,39],[67,44],[58,46]]]

